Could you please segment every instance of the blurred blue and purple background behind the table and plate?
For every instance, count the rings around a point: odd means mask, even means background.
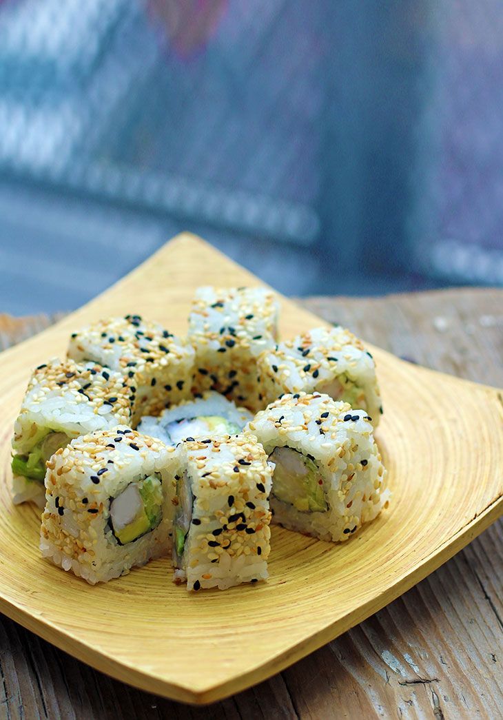
[[[503,284],[499,0],[0,0],[0,311],[171,235],[286,294]]]

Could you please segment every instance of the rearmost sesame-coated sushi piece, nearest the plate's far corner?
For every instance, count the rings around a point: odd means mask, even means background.
[[[263,407],[257,357],[276,343],[277,319],[278,303],[265,288],[200,287],[189,316],[194,392],[217,390],[249,410]]]

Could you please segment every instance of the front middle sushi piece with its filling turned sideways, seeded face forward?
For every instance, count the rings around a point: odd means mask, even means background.
[[[268,577],[271,466],[255,438],[243,435],[180,446],[173,526],[175,582],[187,590]]]

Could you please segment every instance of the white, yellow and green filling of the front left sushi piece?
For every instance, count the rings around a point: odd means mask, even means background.
[[[163,490],[156,473],[140,482],[130,482],[110,503],[112,531],[125,545],[154,530],[163,517]]]

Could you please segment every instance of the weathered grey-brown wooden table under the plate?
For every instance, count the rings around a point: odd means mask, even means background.
[[[301,302],[409,361],[503,387],[503,290]],[[0,348],[53,320],[0,315]],[[502,540],[500,520],[345,635],[203,708],[123,685],[0,618],[0,718],[502,717]]]

